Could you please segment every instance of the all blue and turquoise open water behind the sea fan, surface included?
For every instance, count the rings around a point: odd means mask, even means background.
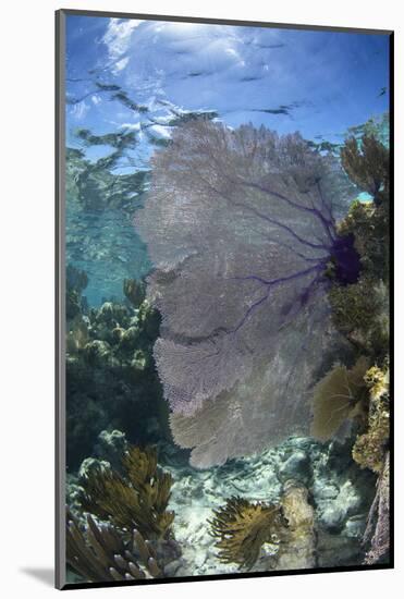
[[[181,122],[299,131],[338,154],[376,118],[387,143],[387,36],[69,16],[66,57],[68,147],[82,152],[68,159],[66,257],[94,306],[151,268],[133,227],[149,175],[122,182]]]

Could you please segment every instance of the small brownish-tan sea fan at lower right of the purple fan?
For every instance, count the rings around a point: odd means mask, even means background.
[[[360,357],[353,368],[334,366],[315,387],[313,398],[311,435],[321,441],[330,439],[348,418],[364,417],[367,386],[366,357]]]

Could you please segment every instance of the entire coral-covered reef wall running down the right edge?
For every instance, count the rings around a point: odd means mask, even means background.
[[[362,273],[347,290],[333,283],[329,293],[336,328],[374,364],[365,376],[368,388],[366,418],[354,441],[352,456],[363,468],[379,475],[368,515],[364,546],[370,549],[365,563],[378,563],[389,554],[389,211],[390,151],[371,133],[360,142],[346,140],[341,159],[348,176],[371,197],[355,201],[340,223],[342,234],[353,234],[360,256]]]

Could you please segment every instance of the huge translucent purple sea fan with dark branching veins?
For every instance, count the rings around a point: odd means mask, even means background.
[[[356,281],[335,219],[355,197],[338,161],[298,134],[179,127],[152,159],[136,228],[162,317],[155,358],[175,441],[208,467],[307,432],[308,390],[342,340],[325,276]]]

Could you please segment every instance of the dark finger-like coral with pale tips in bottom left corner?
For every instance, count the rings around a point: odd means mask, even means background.
[[[156,553],[138,530],[124,537],[111,524],[87,516],[82,528],[68,511],[66,563],[85,580],[142,580],[163,575]]]

